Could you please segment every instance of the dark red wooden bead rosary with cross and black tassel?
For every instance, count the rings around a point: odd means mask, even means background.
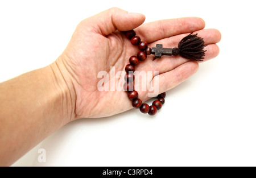
[[[127,91],[127,96],[132,101],[133,107],[139,109],[144,114],[148,113],[149,115],[155,115],[164,104],[166,93],[164,92],[159,94],[157,96],[158,100],[152,102],[151,106],[148,106],[148,104],[142,104],[142,101],[138,98],[138,92],[133,89],[133,72],[135,71],[135,65],[138,65],[139,61],[146,60],[147,55],[151,54],[155,55],[155,59],[161,58],[162,55],[180,55],[186,59],[203,61],[203,56],[205,56],[204,47],[206,45],[204,44],[203,38],[200,38],[197,34],[193,35],[193,33],[181,39],[177,48],[163,48],[163,44],[156,44],[156,47],[151,49],[147,47],[147,42],[141,41],[141,38],[136,35],[134,30],[126,31],[125,36],[131,40],[131,44],[138,45],[140,51],[137,53],[137,56],[130,57],[130,64],[127,64],[125,67],[126,83],[123,85],[123,89]]]

